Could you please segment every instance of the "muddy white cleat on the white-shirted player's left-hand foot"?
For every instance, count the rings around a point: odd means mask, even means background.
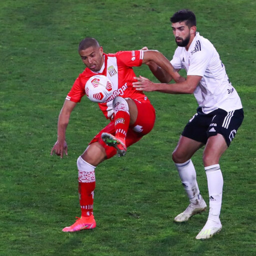
[[[206,205],[204,199],[198,200],[197,204],[193,204],[193,203],[190,202],[190,204],[188,205],[187,209],[184,212],[182,212],[179,215],[177,215],[174,218],[174,221],[175,222],[187,221],[193,215],[199,214],[199,213],[205,211],[206,207],[207,207],[207,205]]]

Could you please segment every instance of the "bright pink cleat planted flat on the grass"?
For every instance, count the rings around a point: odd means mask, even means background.
[[[96,227],[96,221],[93,217],[93,215],[89,217],[76,217],[76,222],[69,226],[62,229],[63,232],[75,232],[83,229],[93,229]]]

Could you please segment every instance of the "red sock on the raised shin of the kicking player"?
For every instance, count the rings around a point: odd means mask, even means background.
[[[130,114],[125,111],[118,111],[114,117],[115,135],[124,139],[129,129]]]

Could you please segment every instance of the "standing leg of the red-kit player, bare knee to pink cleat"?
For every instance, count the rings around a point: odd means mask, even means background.
[[[90,144],[86,151],[78,157],[78,192],[81,217],[76,222],[62,229],[64,232],[74,232],[83,229],[93,229],[96,222],[93,216],[93,197],[95,189],[95,166],[106,158],[104,148],[98,143]]]

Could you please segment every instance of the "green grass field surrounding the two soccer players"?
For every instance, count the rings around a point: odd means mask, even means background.
[[[255,1],[0,1],[0,255],[214,256],[255,255]],[[67,129],[69,154],[50,156],[66,94],[84,69],[77,47],[95,37],[104,52],[148,46],[172,58],[169,18],[183,8],[218,50],[241,96],[245,119],[220,165],[224,177],[221,233],[195,239],[208,211],[173,218],[188,200],[171,152],[195,113],[193,95],[147,93],[153,131],[96,169],[97,228],[63,233],[80,215],[76,159],[107,124],[84,98]],[[156,81],[146,66],[135,69]],[[99,118],[95,118],[99,116]],[[193,157],[208,198],[202,150]],[[206,200],[208,201],[208,200]]]

